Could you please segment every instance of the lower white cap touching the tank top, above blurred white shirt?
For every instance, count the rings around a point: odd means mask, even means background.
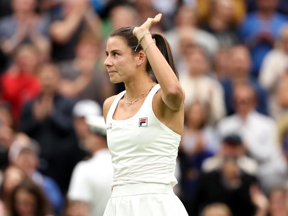
[[[107,128],[103,116],[86,116],[85,122],[92,132],[106,136]]]

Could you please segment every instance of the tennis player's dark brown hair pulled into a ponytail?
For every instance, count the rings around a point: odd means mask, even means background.
[[[126,44],[128,45],[128,47],[131,48],[132,54],[136,55],[141,50],[143,50],[143,47],[141,45],[139,45],[137,47],[138,39],[137,39],[137,37],[135,37],[133,35],[133,30],[134,30],[134,27],[122,27],[120,29],[114,30],[110,34],[110,37],[118,36],[118,37],[123,38],[125,40]],[[172,49],[171,49],[169,42],[164,37],[164,35],[162,35],[160,33],[151,33],[151,36],[153,39],[155,39],[156,46],[158,47],[158,49],[160,50],[160,52],[162,53],[162,55],[164,56],[164,58],[166,59],[166,61],[170,65],[170,67],[172,68],[172,70],[174,71],[177,79],[179,79],[178,71],[176,68],[176,63],[175,63],[175,60],[173,58],[173,53],[172,53]],[[136,47],[137,47],[137,49],[136,49]],[[136,51],[135,51],[135,49],[136,49]],[[150,78],[153,81],[158,83],[149,61],[147,61],[146,71],[149,74]]]

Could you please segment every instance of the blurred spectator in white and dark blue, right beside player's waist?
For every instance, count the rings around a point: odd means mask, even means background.
[[[208,104],[199,101],[193,102],[185,113],[187,121],[179,149],[182,151],[179,162],[184,203],[188,203],[195,193],[202,162],[214,155],[220,144],[214,128],[207,126],[208,115]]]

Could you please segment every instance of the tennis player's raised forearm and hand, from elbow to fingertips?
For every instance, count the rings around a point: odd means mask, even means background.
[[[133,34],[140,39],[141,35],[149,30],[152,26],[157,24],[161,19],[162,14],[159,13],[155,18],[148,18],[146,22],[140,27],[135,27]],[[180,110],[184,104],[184,90],[182,89],[174,71],[158,49],[153,43],[152,36],[147,34],[140,42],[152,70],[161,86],[161,97],[164,103],[171,110]]]

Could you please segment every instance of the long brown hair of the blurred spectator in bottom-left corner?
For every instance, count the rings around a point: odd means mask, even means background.
[[[17,209],[15,207],[16,194],[19,190],[24,190],[29,194],[33,195],[36,201],[36,210],[34,212],[35,216],[46,216],[51,214],[51,208],[46,200],[46,197],[42,193],[40,187],[32,182],[31,179],[24,179],[12,192],[10,197],[10,215],[19,216]]]

